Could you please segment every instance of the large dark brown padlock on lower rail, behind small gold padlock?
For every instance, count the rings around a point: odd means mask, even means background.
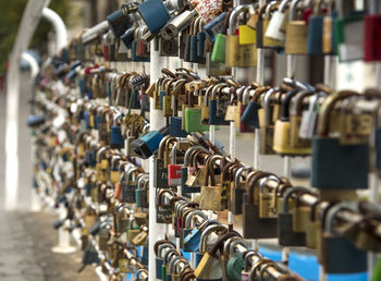
[[[259,218],[259,191],[256,188],[257,182],[265,178],[273,175],[267,172],[258,172],[250,179],[245,201],[243,206],[243,229],[245,239],[270,239],[278,236],[278,218]]]

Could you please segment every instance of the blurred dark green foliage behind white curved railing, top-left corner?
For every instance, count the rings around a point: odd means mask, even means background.
[[[27,0],[0,1],[0,74],[7,70],[8,57],[16,38],[26,3]],[[49,8],[56,11],[64,22],[69,15],[69,0],[53,0],[49,4]],[[47,38],[51,28],[51,24],[41,19],[29,48],[44,54],[47,50]]]

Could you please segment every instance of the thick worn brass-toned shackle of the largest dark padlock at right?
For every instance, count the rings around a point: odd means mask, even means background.
[[[328,136],[329,134],[329,115],[334,106],[337,101],[346,99],[348,97],[353,96],[359,96],[360,94],[354,91],[354,90],[342,90],[335,95],[330,95],[324,100],[320,113],[319,113],[319,121],[318,121],[318,135],[319,136]]]

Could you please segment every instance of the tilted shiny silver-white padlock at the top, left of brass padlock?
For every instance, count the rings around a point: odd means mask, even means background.
[[[285,34],[282,30],[282,25],[286,21],[286,10],[290,0],[282,0],[279,9],[271,16],[270,23],[266,29],[265,36],[274,40],[284,41]]]

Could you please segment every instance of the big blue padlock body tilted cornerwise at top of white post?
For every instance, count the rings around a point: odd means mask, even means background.
[[[151,34],[158,34],[171,19],[162,0],[147,0],[137,8]]]

